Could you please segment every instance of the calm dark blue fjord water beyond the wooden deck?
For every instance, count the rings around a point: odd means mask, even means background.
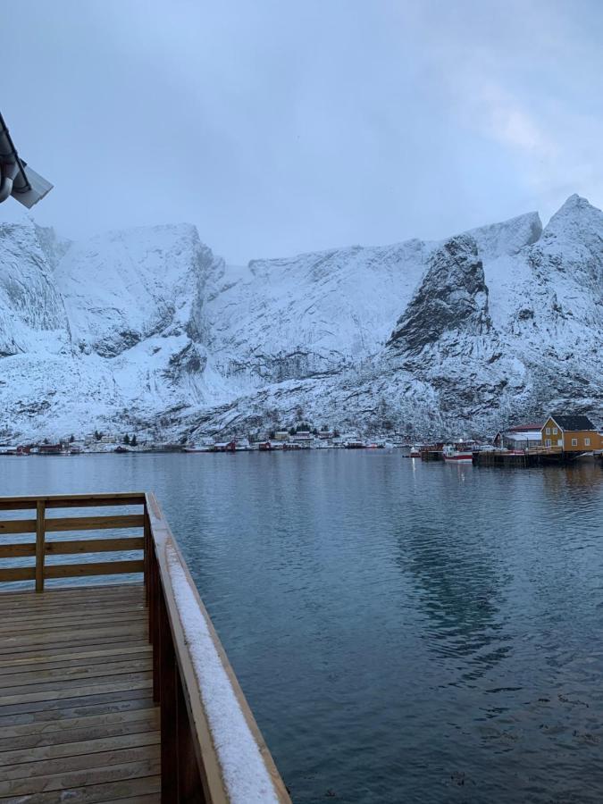
[[[299,804],[603,800],[600,465],[29,457],[0,480],[155,490]]]

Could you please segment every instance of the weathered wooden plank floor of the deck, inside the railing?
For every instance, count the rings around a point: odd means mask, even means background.
[[[142,583],[0,594],[0,804],[160,800]]]

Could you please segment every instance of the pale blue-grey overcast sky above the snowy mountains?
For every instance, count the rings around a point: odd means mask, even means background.
[[[599,0],[4,0],[2,20],[2,112],[55,185],[33,214],[71,238],[187,221],[244,263],[603,205]]]

